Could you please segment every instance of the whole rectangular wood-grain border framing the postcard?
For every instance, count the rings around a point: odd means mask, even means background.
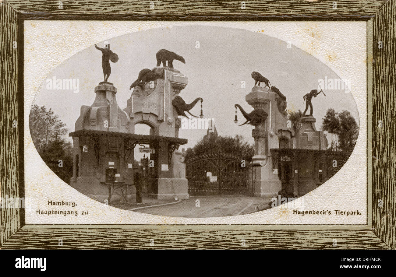
[[[333,9],[337,2],[337,9]],[[359,20],[367,21],[372,100],[372,228],[249,230],[242,226],[25,225],[23,209],[0,209],[2,249],[396,249],[396,0],[0,0],[1,195],[24,197],[23,21],[30,20]],[[383,48],[378,47],[382,42]],[[372,57],[370,57],[372,55]],[[371,63],[372,61],[372,63]],[[371,93],[372,92],[372,93]],[[383,121],[383,128],[377,122]],[[17,127],[13,123],[17,122]],[[370,126],[368,126],[370,130]],[[370,134],[370,131],[369,131]],[[371,137],[371,136],[369,136]],[[370,195],[369,195],[370,197]],[[382,203],[378,205],[379,201]],[[159,228],[160,227],[160,228]],[[246,226],[245,226],[246,227]],[[337,247],[333,247],[333,239]],[[58,246],[58,240],[63,246]],[[150,247],[150,239],[156,241]]]

